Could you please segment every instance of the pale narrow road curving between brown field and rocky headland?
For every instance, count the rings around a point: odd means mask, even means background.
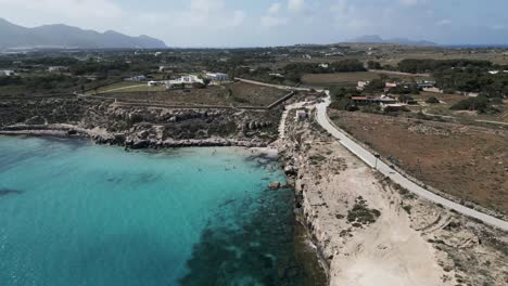
[[[328,93],[328,92],[327,92]],[[342,145],[344,145],[347,150],[350,150],[353,154],[358,156],[361,160],[364,160],[367,165],[371,166],[372,168],[376,165],[376,157],[369,151],[365,150],[363,146],[351,140],[344,133],[339,131],[332,123],[327,115],[327,108],[330,105],[330,96],[323,102],[318,104],[317,107],[317,121],[319,125],[325,128],[330,134],[332,134],[335,139],[340,140]],[[475,218],[481,220],[482,222],[490,224],[492,226],[498,227],[504,231],[508,231],[508,222],[496,219],[488,214],[482,213],[480,211],[467,208],[462,205],[454,203],[449,199],[443,198],[432,192],[424,190],[423,187],[419,186],[418,184],[414,183],[412,181],[406,179],[404,176],[398,173],[396,170],[392,169],[390,166],[384,164],[381,160],[378,160],[378,170],[383,173],[384,176],[390,177],[392,181],[402,185],[403,187],[407,188],[408,191],[419,195],[420,197],[427,198],[433,203],[441,204],[449,209],[454,209],[459,213],[465,216]]]

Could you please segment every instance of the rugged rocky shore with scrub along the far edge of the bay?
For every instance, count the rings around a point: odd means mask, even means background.
[[[281,110],[123,106],[77,98],[0,103],[3,134],[80,135],[129,148],[262,147],[277,139],[275,127],[281,115]]]

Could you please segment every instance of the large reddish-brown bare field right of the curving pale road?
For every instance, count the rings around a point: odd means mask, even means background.
[[[426,184],[508,213],[508,132],[360,113],[330,117]]]

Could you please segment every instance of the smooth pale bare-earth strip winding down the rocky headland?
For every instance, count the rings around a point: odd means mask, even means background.
[[[331,268],[336,272],[330,285],[447,285],[441,280],[444,272],[434,249],[411,229],[399,204],[391,204],[394,198],[377,184],[371,171],[366,167],[350,168],[330,187],[341,179],[345,179],[341,186],[343,196],[361,195],[381,217],[355,234],[333,259]]]

